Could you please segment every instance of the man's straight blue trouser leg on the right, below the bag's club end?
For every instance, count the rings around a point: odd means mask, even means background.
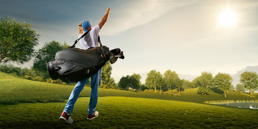
[[[90,91],[90,103],[88,108],[88,115],[92,115],[95,112],[97,101],[98,101],[98,85],[100,81],[102,68],[95,74],[91,76],[91,91]]]

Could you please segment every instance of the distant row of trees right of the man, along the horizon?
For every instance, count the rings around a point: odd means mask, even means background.
[[[192,81],[185,79],[180,79],[179,75],[175,71],[167,70],[163,75],[156,70],[151,70],[147,74],[145,79],[145,84],[140,83],[141,76],[139,74],[133,73],[133,75],[126,75],[121,77],[118,87],[124,90],[134,89],[146,90],[154,89],[156,92],[159,89],[160,94],[162,94],[162,88],[172,93],[173,87],[177,88],[179,96],[182,93],[180,88],[191,89],[198,88],[197,93],[202,95],[209,95],[211,93],[211,88],[216,88],[224,92],[226,97],[226,92],[230,89],[236,89],[238,91],[250,91],[252,95],[252,90],[258,90],[258,74],[255,72],[243,72],[240,76],[239,82],[242,84],[237,84],[236,88],[232,85],[232,77],[228,73],[218,73],[215,77],[212,76],[210,72],[202,72],[199,77],[196,77]],[[166,91],[167,93],[167,91]]]

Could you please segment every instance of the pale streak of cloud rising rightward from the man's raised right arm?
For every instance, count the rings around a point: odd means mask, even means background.
[[[127,1],[111,9],[103,35],[116,35],[135,26],[146,24],[168,11],[189,5],[196,0],[140,0]]]

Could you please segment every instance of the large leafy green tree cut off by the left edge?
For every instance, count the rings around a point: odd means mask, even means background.
[[[0,63],[23,64],[31,59],[40,35],[30,27],[31,24],[17,22],[8,16],[0,18]]]

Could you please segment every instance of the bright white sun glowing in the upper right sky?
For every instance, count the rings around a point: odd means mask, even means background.
[[[234,14],[232,11],[230,10],[224,11],[220,15],[220,25],[234,26],[236,19],[237,19],[237,15]]]

